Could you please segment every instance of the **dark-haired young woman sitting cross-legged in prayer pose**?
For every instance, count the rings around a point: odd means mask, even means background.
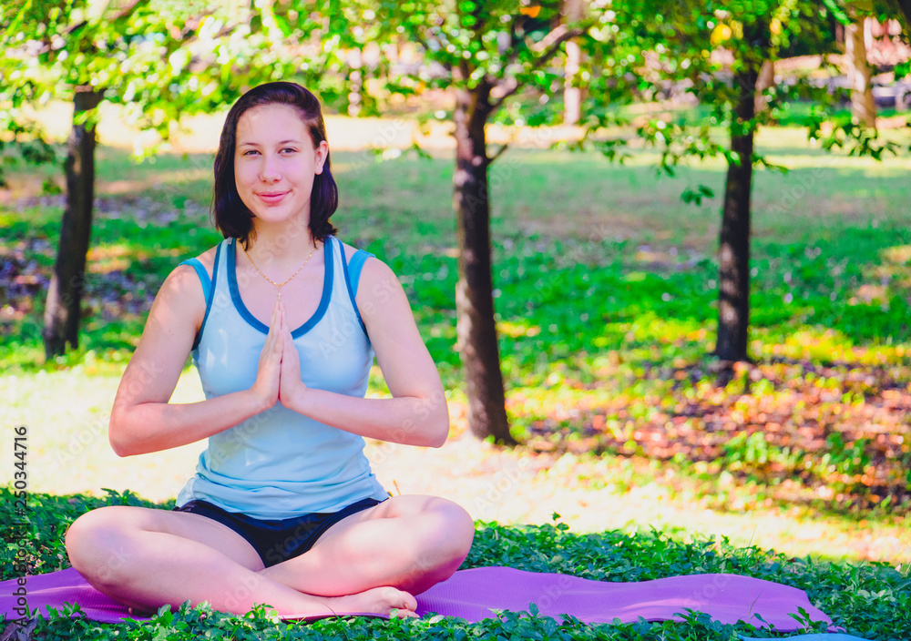
[[[142,610],[208,601],[243,614],[414,614],[474,526],[456,504],[390,497],[363,437],[438,447],[443,386],[392,270],[334,237],[319,102],[257,86],[215,158],[225,240],[173,270],[120,382],[121,456],[209,439],[175,511],[111,506],[67,532],[87,581]],[[192,353],[206,400],[170,403]],[[393,398],[365,399],[374,353]]]

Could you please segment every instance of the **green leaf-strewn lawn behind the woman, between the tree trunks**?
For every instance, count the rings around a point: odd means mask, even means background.
[[[828,484],[842,496],[822,502],[804,496],[821,510],[901,517],[911,510],[911,446],[900,438],[900,425],[886,426],[889,443],[877,442],[883,429],[865,431],[863,414],[911,382],[907,160],[821,155],[802,147],[800,132],[789,128],[767,130],[760,143],[793,170],[756,175],[751,351],[757,367],[721,393],[706,356],[717,315],[717,204],[687,206],[680,192],[702,183],[720,193],[722,166],[683,168],[672,180],[658,178],[654,156],[644,152],[623,166],[597,154],[521,149],[497,160],[490,174],[494,280],[507,396],[522,399],[509,406],[515,431],[533,447],[659,458],[697,482],[721,467],[754,486],[799,474],[804,489]],[[160,281],[179,259],[219,239],[207,223],[209,155],[161,156],[140,167],[116,149],[101,148],[98,156],[102,207],[80,350],[40,365],[42,300],[22,297],[20,313],[0,324],[0,360],[10,371],[30,375],[81,363],[88,374],[116,374]],[[451,159],[377,163],[347,152],[335,154],[333,163],[343,194],[334,217],[341,237],[399,274],[446,388],[462,398],[453,349]],[[31,269],[46,277],[59,209],[7,209],[0,217],[0,251],[18,251],[20,266],[33,260]],[[859,380],[867,374],[873,383]],[[374,378],[374,387],[382,382]],[[817,401],[788,402],[794,393]],[[643,428],[668,432],[678,417],[697,435],[730,425],[732,414],[741,416],[733,420],[738,430],[760,430],[762,421],[746,415],[755,409],[751,396],[787,408],[777,418],[791,430],[806,422],[821,426],[823,444],[785,444],[772,436],[763,445],[755,434],[728,443],[730,426],[711,437],[710,448],[697,448],[692,439],[659,453],[635,438]],[[582,414],[555,422],[551,409],[558,401],[574,403]],[[706,415],[719,406],[727,415],[713,426]],[[770,412],[752,413],[772,420]],[[844,446],[830,451],[832,439]],[[700,461],[709,467],[693,467]],[[873,483],[864,481],[870,465]],[[755,501],[787,503],[774,488],[753,494]]]

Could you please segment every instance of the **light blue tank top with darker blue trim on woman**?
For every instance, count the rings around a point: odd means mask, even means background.
[[[354,294],[370,254],[359,251],[348,265],[339,239],[327,238],[323,248],[319,308],[292,331],[302,381],[313,389],[363,397],[374,351]],[[206,294],[206,315],[192,356],[207,399],[251,388],[269,331],[241,300],[235,249],[235,239],[220,243],[211,283],[199,260],[186,261],[200,274]],[[282,519],[337,512],[364,498],[382,501],[389,493],[371,471],[363,444],[360,436],[276,403],[210,437],[177,504],[201,499],[228,512]]]

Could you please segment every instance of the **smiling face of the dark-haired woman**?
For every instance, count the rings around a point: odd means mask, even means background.
[[[234,180],[241,200],[263,223],[310,223],[313,178],[329,155],[323,140],[316,148],[298,112],[287,105],[262,105],[237,123]]]

